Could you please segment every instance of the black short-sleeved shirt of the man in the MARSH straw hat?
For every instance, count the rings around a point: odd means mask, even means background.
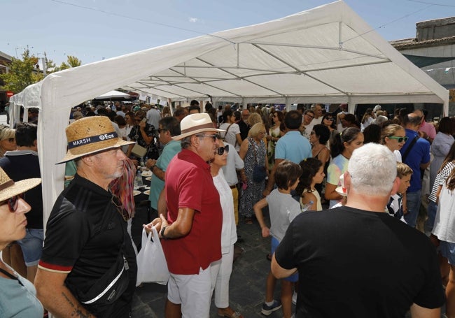
[[[39,266],[68,273],[65,284],[71,290],[85,292],[116,262],[123,246],[131,284],[116,301],[114,306],[118,308],[131,303],[137,265],[127,224],[111,197],[109,191],[76,174],[52,208]],[[116,311],[120,315],[120,310]],[[123,315],[110,314],[109,317]]]

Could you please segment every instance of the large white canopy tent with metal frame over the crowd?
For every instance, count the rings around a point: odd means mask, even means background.
[[[52,73],[11,99],[41,108],[45,219],[63,187],[64,166],[55,163],[66,152],[70,108],[118,87],[163,100],[349,103],[351,110],[356,103],[442,103],[445,114],[449,100],[343,1]]]

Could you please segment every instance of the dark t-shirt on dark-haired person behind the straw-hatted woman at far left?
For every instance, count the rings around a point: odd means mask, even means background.
[[[0,167],[13,181],[41,178],[38,154],[32,150],[8,151],[0,159]],[[43,229],[43,191],[41,184],[24,193],[31,210],[27,213],[27,229]]]

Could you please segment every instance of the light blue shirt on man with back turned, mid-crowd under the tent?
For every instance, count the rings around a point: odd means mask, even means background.
[[[276,143],[275,160],[286,159],[300,164],[300,161],[309,157],[312,157],[311,145],[300,131],[288,131]]]

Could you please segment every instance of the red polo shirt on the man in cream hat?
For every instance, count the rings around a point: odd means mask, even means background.
[[[193,275],[221,259],[220,196],[210,174],[210,166],[200,156],[183,149],[167,167],[165,192],[167,221],[177,219],[179,208],[195,210],[190,233],[182,238],[162,240],[169,271]]]

